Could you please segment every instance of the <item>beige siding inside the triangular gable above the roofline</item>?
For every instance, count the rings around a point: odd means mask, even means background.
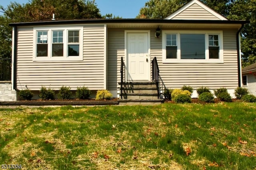
[[[172,20],[220,20],[210,12],[194,3],[176,15]]]

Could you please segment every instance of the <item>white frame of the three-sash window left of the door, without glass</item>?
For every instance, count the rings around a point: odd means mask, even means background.
[[[52,57],[52,32],[53,31],[64,31],[63,32],[63,57]],[[79,56],[68,57],[68,30],[79,30]],[[48,31],[48,56],[47,57],[36,57],[36,44],[37,44],[37,32]],[[83,27],[74,26],[58,26],[58,27],[34,27],[34,47],[33,47],[33,61],[78,61],[83,60]]]

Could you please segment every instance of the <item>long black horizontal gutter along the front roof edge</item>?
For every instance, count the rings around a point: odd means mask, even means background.
[[[245,20],[163,20],[163,19],[78,19],[10,23],[10,26],[38,26],[57,24],[246,24]]]

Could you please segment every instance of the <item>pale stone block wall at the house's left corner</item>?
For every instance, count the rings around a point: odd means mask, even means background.
[[[16,101],[16,97],[11,81],[0,81],[0,101]]]

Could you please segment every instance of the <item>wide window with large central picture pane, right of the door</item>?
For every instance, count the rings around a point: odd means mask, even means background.
[[[223,63],[222,31],[162,31],[164,63]]]

